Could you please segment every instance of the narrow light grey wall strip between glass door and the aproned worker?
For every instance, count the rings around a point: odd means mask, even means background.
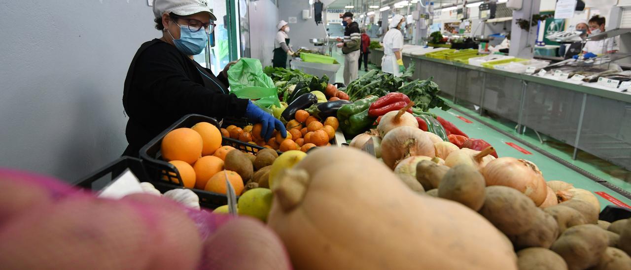
[[[278,8],[271,0],[251,1],[248,14],[252,58],[261,60],[264,67],[271,66],[276,24],[279,21]],[[293,34],[293,29],[290,33]]]

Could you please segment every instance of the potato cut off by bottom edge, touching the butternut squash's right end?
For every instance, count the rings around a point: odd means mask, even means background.
[[[519,270],[567,270],[563,258],[543,247],[529,247],[517,252]]]

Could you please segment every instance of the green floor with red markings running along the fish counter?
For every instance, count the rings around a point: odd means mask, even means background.
[[[342,67],[336,74],[336,81],[343,82],[344,57],[341,52],[333,52],[333,56],[338,59],[338,62],[342,63]],[[374,68],[375,66],[369,65],[369,69]],[[365,72],[363,71],[363,69],[361,69],[358,75],[362,76],[363,74],[365,74]],[[550,153],[551,155],[562,158],[562,160],[565,160],[572,165],[581,168],[582,170],[586,170],[587,172],[592,173],[593,175],[596,175],[597,177],[606,180],[607,182],[610,182],[611,184],[616,185],[617,187],[620,187],[627,192],[631,192],[631,172],[628,172],[623,168],[611,165],[606,161],[600,160],[599,158],[591,156],[582,151],[579,152],[578,160],[572,160],[573,148],[571,146],[568,146],[567,144],[560,143],[553,139],[546,139],[544,143],[541,144],[538,137],[534,134],[533,131],[529,130],[525,134],[518,134],[514,130],[515,124],[512,122],[504,122],[502,120],[493,119],[492,117],[480,117],[478,112],[475,112],[474,110],[466,109],[465,107],[456,105],[452,102],[449,102],[449,104],[458,110],[466,112],[466,114],[475,115],[476,118],[485,121],[487,124],[497,127],[502,131],[508,132],[509,134],[512,134],[513,136],[516,136],[517,138],[522,139],[529,144],[533,144],[534,146]],[[577,188],[587,189],[593,192],[605,192],[615,199],[618,199],[625,204],[631,205],[630,199],[627,199],[626,197],[616,193],[615,191],[609,189],[608,187],[605,187],[604,185],[594,182],[581,173],[575,172],[562,163],[558,163],[557,161],[548,158],[538,151],[535,151],[526,145],[522,145],[521,143],[519,143],[519,141],[515,141],[508,136],[505,136],[504,134],[491,129],[488,126],[485,126],[485,124],[482,124],[475,119],[469,119],[469,117],[462,115],[466,119],[471,120],[472,123],[468,124],[464,122],[457,117],[460,114],[456,110],[449,110],[447,112],[443,110],[432,110],[432,112],[440,115],[450,122],[453,122],[454,124],[456,124],[456,126],[466,132],[469,136],[471,136],[471,138],[485,139],[485,141],[492,144],[496,148],[500,156],[513,156],[515,158],[524,158],[526,160],[533,161],[541,169],[541,172],[543,172],[543,176],[546,180],[563,180],[565,182],[574,184],[574,186]],[[517,146],[529,151],[531,154],[526,155],[520,151],[517,151],[515,148],[509,146],[509,144],[507,143],[517,144]],[[597,197],[601,202],[602,208],[604,208],[604,206],[606,205],[612,204],[612,202],[607,201],[602,196]]]

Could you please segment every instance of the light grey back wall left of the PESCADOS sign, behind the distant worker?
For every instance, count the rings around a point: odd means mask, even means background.
[[[326,21],[326,7],[333,1],[322,0],[322,4],[324,4],[322,21]],[[313,47],[313,44],[309,43],[309,38],[326,37],[326,24],[316,26],[314,18],[302,20],[302,10],[310,8],[308,0],[278,0],[278,20],[289,21],[289,17],[298,18],[297,23],[289,24],[292,28],[292,31],[289,33],[290,44],[295,50],[298,50],[300,47]]]

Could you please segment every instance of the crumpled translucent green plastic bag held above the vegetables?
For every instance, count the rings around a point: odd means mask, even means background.
[[[252,103],[272,113],[271,106],[280,107],[274,81],[263,73],[259,59],[242,58],[228,69],[230,93],[239,98],[248,98]]]

